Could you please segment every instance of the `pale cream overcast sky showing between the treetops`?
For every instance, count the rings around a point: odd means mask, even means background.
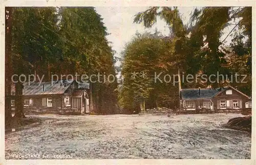
[[[117,51],[115,56],[120,57],[120,52],[123,50],[126,42],[132,39],[136,31],[154,32],[157,28],[163,35],[169,34],[169,29],[166,23],[160,19],[157,19],[156,25],[151,29],[145,29],[143,24],[133,23],[134,15],[138,12],[145,11],[148,7],[96,7],[97,13],[103,18],[104,25],[108,28],[108,33],[111,33],[107,39],[113,42],[112,47]],[[190,13],[194,11],[193,7],[180,7],[178,8],[183,23],[187,23],[190,18]],[[223,39],[229,33],[232,27],[228,27],[224,31]],[[227,44],[230,43],[230,38],[227,38]],[[118,64],[117,64],[118,65]]]

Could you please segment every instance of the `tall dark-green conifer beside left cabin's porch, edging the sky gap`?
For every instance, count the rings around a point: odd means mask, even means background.
[[[114,53],[106,40],[102,18],[92,7],[61,8],[60,34],[63,37],[63,61],[71,74],[115,75]],[[75,67],[72,67],[75,66]],[[93,81],[96,79],[93,79]],[[100,81],[100,82],[99,82]],[[90,110],[113,114],[116,105],[117,82],[102,83],[102,77],[90,83]],[[108,99],[112,98],[111,101]],[[107,101],[108,100],[108,101]],[[108,106],[107,106],[108,105]]]

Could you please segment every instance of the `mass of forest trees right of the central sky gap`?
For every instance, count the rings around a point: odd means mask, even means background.
[[[177,7],[151,7],[138,13],[134,23],[145,28],[156,24],[157,18],[169,26],[168,37],[159,32],[137,34],[126,44],[122,52],[118,101],[125,111],[141,111],[145,108],[179,108],[179,89],[224,87],[231,85],[251,96],[251,7],[196,8],[184,24]],[[233,25],[229,34],[223,30]],[[221,39],[225,35],[224,39]],[[225,44],[231,37],[230,45]],[[227,79],[180,83],[156,83],[154,73],[162,75],[227,75]],[[146,78],[132,77],[131,73],[146,72]],[[247,75],[232,80],[234,73]],[[162,77],[163,79],[164,77]],[[177,81],[177,77],[174,77]],[[234,79],[234,78],[233,78]],[[167,79],[169,81],[169,79]],[[173,82],[173,80],[172,80]]]

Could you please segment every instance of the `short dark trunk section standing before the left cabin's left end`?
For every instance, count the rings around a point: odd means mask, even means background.
[[[22,82],[17,82],[15,84],[15,118],[26,118],[23,112],[23,107],[23,84]]]

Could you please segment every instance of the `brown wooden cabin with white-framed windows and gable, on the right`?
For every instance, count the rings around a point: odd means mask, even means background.
[[[231,86],[223,88],[182,89],[180,91],[181,109],[210,112],[221,110],[251,108],[251,98]]]

